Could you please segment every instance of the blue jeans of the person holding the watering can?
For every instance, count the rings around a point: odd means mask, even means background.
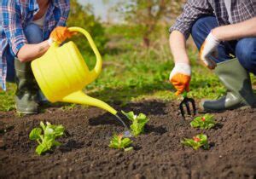
[[[0,0],[1,1],[1,0]],[[43,39],[42,29],[33,23],[30,23],[24,29],[27,43],[41,43]],[[11,54],[9,47],[5,50],[4,54],[7,57],[7,74],[6,81],[15,82],[15,57]]]

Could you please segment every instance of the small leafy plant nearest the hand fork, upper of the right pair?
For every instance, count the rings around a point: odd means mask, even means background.
[[[214,117],[211,114],[205,114],[203,116],[199,116],[194,118],[194,120],[190,123],[190,125],[194,128],[200,127],[201,129],[211,129],[215,126]]]

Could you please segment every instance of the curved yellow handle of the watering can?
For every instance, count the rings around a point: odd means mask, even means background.
[[[94,54],[96,55],[96,66],[93,70],[90,71],[91,78],[95,79],[97,76],[102,72],[102,55],[99,53],[99,50],[96,48],[96,44],[94,43],[93,39],[90,36],[90,33],[85,31],[83,28],[80,27],[69,27],[68,30],[70,32],[80,32],[84,34],[85,38],[87,38],[91,49],[93,50]]]

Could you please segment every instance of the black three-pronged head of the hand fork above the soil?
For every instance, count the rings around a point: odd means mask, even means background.
[[[179,109],[180,109],[180,112],[183,116],[183,118],[185,118],[185,111],[184,111],[184,106],[186,107],[187,109],[187,113],[189,116],[191,116],[191,111],[190,111],[190,105],[192,106],[192,109],[193,109],[193,116],[195,116],[196,114],[196,107],[195,107],[195,100],[193,98],[188,98],[188,94],[187,92],[184,92],[183,93],[183,101],[181,101],[181,103],[179,104]]]

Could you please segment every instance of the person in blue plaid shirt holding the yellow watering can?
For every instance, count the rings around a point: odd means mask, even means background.
[[[73,34],[66,20],[69,0],[0,0],[0,82],[15,82],[18,113],[38,113],[38,84],[30,61],[53,42],[62,43]]]

